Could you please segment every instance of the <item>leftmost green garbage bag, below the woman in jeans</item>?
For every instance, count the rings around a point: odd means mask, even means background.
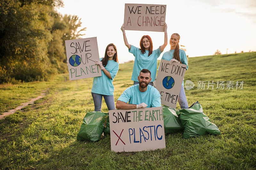
[[[77,134],[77,140],[97,141],[100,139],[105,127],[107,113],[88,112],[83,119],[81,128]]]

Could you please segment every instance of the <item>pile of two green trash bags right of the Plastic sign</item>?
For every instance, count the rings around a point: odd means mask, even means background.
[[[219,128],[203,113],[203,108],[197,101],[187,109],[175,110],[163,106],[164,132],[173,133],[183,130],[183,138],[201,135],[221,134]]]

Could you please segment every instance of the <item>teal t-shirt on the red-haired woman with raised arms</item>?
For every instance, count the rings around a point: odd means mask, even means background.
[[[140,74],[140,70],[148,69],[151,72],[151,82],[156,79],[156,69],[157,69],[157,58],[162,53],[160,51],[160,47],[152,52],[151,55],[148,56],[148,50],[145,50],[145,53],[142,54],[140,48],[134,47],[131,45],[131,49],[129,50],[135,57],[133,70],[132,70],[132,81],[138,81],[138,76]]]

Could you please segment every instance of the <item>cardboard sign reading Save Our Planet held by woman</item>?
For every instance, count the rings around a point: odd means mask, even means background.
[[[69,80],[101,76],[97,37],[66,40]]]

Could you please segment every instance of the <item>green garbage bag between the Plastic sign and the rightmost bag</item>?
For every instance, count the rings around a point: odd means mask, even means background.
[[[180,119],[176,114],[176,109],[168,106],[163,106],[163,116],[164,133],[173,133],[183,129]]]

